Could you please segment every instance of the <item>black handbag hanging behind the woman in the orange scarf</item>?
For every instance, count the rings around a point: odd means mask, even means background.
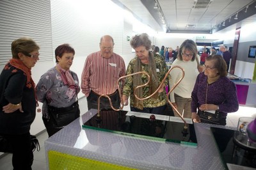
[[[40,151],[40,144],[38,142],[38,139],[36,139],[36,136],[30,135],[30,138],[31,138],[31,150]],[[8,140],[3,135],[0,135],[0,152],[13,153],[12,145],[8,142]]]

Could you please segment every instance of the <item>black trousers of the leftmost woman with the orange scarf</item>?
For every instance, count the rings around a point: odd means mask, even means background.
[[[12,166],[13,170],[31,170],[34,155],[31,150],[30,134],[4,135],[10,141],[13,148]]]

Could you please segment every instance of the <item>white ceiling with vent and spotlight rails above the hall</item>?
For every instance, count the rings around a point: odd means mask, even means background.
[[[180,33],[210,32],[214,27],[219,30],[227,26],[240,27],[256,21],[255,0],[113,0],[113,2],[118,2],[119,5],[121,3],[123,8],[129,9],[138,19],[156,31],[164,30],[159,9],[162,10],[170,30]],[[154,9],[155,3],[160,8]],[[198,8],[200,3],[208,5]],[[195,4],[197,4],[196,7]],[[250,6],[249,13],[244,13],[246,6]],[[238,20],[234,20],[237,12],[239,12]],[[249,14],[253,15],[248,17]],[[243,20],[241,20],[242,16]],[[228,22],[229,19],[231,22]],[[224,21],[226,26],[222,26]],[[188,28],[187,24],[193,24],[195,27]]]

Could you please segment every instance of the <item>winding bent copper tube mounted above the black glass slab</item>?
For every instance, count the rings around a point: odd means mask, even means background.
[[[124,78],[129,77],[129,76],[132,76],[132,75],[140,74],[140,73],[144,73],[145,75],[147,75],[148,81],[147,81],[145,84],[141,84],[140,86],[138,86],[138,87],[136,87],[136,88],[134,89],[134,97],[136,97],[138,100],[146,100],[146,99],[152,97],[153,95],[155,95],[155,94],[157,93],[157,91],[162,88],[162,86],[163,86],[163,84],[164,84],[164,81],[167,79],[169,73],[170,73],[174,68],[179,68],[180,70],[182,70],[182,77],[180,77],[179,81],[176,82],[176,84],[172,87],[172,89],[170,89],[170,91],[169,91],[168,94],[166,95],[166,96],[167,96],[167,101],[168,101],[168,103],[172,106],[172,108],[177,112],[177,114],[179,115],[179,117],[181,118],[181,120],[184,121],[184,129],[188,129],[188,125],[187,125],[186,120],[184,120],[184,118],[181,116],[180,112],[177,111],[177,109],[173,106],[172,102],[171,102],[171,101],[169,100],[169,98],[168,98],[168,96],[169,96],[170,93],[173,91],[173,89],[175,89],[175,88],[178,86],[178,84],[180,83],[180,81],[182,81],[182,79],[184,78],[185,72],[184,72],[184,68],[182,68],[181,66],[172,66],[172,68],[170,68],[170,69],[168,70],[168,72],[166,73],[166,75],[164,76],[163,81],[161,82],[161,84],[159,85],[159,87],[156,89],[156,91],[155,91],[154,93],[152,93],[151,95],[149,95],[148,97],[145,97],[145,98],[139,98],[139,97],[136,95],[135,92],[136,92],[136,90],[137,90],[138,88],[142,88],[142,87],[148,85],[148,83],[149,83],[149,81],[150,81],[150,75],[148,75],[147,72],[136,72],[136,73],[131,73],[131,74],[129,74],[129,75],[125,75],[125,76],[120,77],[120,78],[118,79],[118,81],[117,81],[117,84],[118,84],[118,93],[119,93],[120,100],[121,100],[120,108],[119,108],[119,109],[115,109],[115,108],[113,107],[113,104],[112,104],[112,102],[111,102],[111,99],[109,98],[108,95],[100,95],[100,97],[98,98],[98,112],[97,112],[97,117],[98,117],[98,118],[100,117],[100,98],[101,98],[101,97],[106,97],[106,98],[108,98],[109,103],[110,103],[110,106],[111,106],[111,108],[112,108],[114,111],[120,111],[120,110],[122,110],[122,109],[124,108],[124,101],[122,100],[121,90],[120,90],[120,86],[119,86],[119,82],[120,82],[121,79],[124,79]]]

